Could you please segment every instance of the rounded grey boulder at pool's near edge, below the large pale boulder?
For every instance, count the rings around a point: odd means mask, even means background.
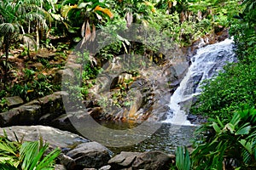
[[[76,169],[80,167],[100,168],[108,164],[110,150],[102,144],[89,142],[77,145],[73,150],[67,152],[67,156],[73,158]]]

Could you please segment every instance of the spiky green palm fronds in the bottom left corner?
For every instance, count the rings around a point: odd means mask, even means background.
[[[16,139],[17,136],[15,135]],[[33,142],[16,142],[8,139],[7,134],[0,137],[0,169],[1,170],[41,170],[54,169],[55,158],[61,150],[56,148],[48,154],[49,144],[44,144],[43,139]]]

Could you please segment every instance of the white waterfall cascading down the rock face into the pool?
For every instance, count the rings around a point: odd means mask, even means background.
[[[223,42],[199,48],[191,58],[188,72],[180,82],[170,99],[170,111],[167,113],[166,123],[176,125],[191,125],[187,120],[187,112],[192,105],[193,98],[201,94],[201,82],[214,78],[227,63],[236,60],[233,52],[233,41],[225,39]]]

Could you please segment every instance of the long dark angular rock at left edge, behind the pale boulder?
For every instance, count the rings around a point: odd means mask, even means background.
[[[34,99],[15,109],[0,113],[0,126],[49,124],[65,111],[61,98],[63,95],[67,95],[67,93],[55,92],[41,99]]]

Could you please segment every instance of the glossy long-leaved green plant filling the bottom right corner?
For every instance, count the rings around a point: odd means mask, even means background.
[[[210,118],[196,134],[195,169],[256,167],[256,110],[236,111],[230,121]]]

